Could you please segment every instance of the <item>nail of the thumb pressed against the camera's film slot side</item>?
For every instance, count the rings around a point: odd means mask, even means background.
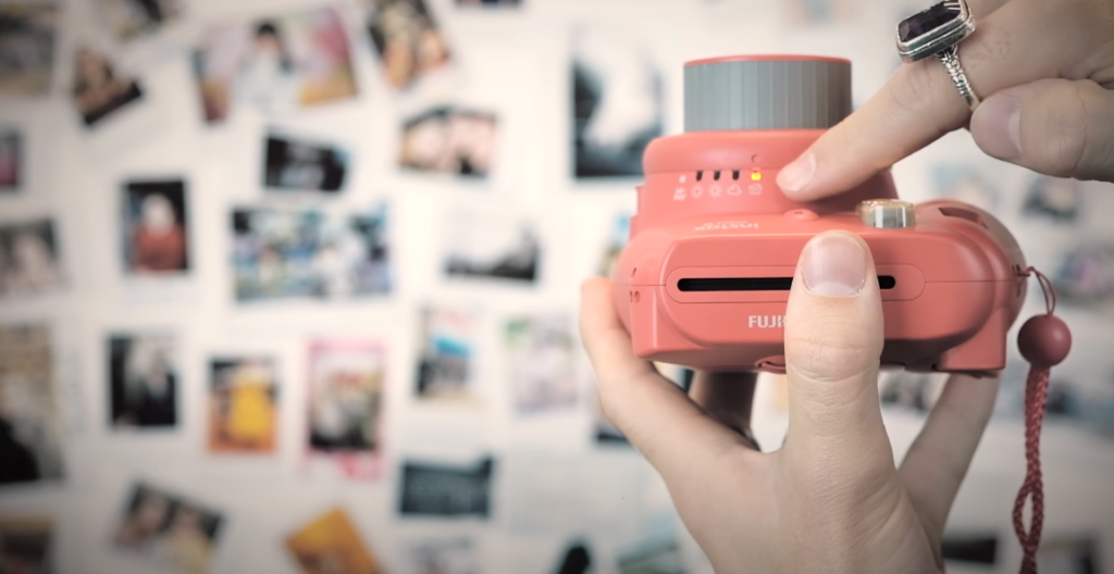
[[[815,295],[851,297],[867,284],[867,253],[844,234],[813,237],[801,257],[804,287]]]

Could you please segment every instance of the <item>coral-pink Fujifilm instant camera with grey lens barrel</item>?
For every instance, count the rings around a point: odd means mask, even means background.
[[[786,199],[778,170],[851,110],[851,65],[801,56],[685,66],[685,133],[651,142],[615,300],[643,358],[783,373],[783,317],[808,240],[862,237],[878,269],[881,362],[984,375],[1006,362],[1025,258],[989,214],[913,206],[889,172],[815,204]]]

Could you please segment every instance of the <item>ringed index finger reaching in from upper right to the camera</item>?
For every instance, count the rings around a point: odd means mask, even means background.
[[[958,56],[975,93],[984,99],[1038,79],[1081,73],[1068,67],[1086,60],[1095,38],[1103,34],[1085,22],[1086,11],[1074,3],[968,3],[977,28],[959,43]],[[1057,39],[1055,49],[1049,49],[1051,41],[1034,41],[1039,38]],[[779,187],[797,201],[852,189],[961,128],[970,113],[936,57],[903,65],[870,100],[785,166]]]

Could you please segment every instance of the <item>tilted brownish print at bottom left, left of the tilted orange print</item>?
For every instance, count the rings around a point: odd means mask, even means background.
[[[222,513],[207,505],[138,483],[125,502],[113,544],[168,572],[203,574],[224,525]]]

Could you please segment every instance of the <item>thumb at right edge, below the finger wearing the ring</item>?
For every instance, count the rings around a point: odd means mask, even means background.
[[[1038,80],[975,110],[983,151],[1056,177],[1114,181],[1114,91],[1091,80]]]

